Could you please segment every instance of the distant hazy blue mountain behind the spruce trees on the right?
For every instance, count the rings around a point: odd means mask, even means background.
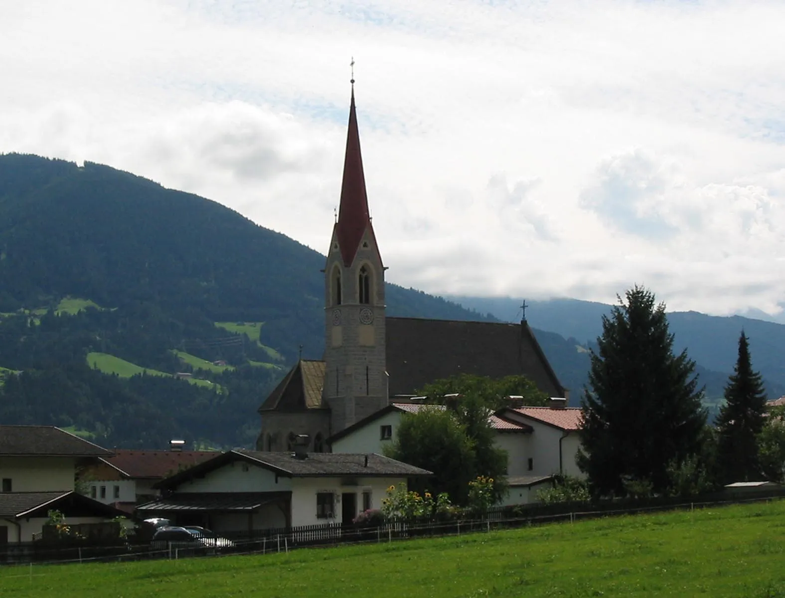
[[[454,295],[447,299],[506,322],[520,319],[523,302],[513,297]],[[611,307],[578,299],[527,301],[526,318],[531,326],[551,330],[562,337],[579,339],[575,340],[576,345],[590,348],[602,333],[602,317],[611,312]],[[688,355],[695,360],[701,384],[706,385],[711,404],[717,404],[728,375],[733,371],[742,330],[750,339],[753,366],[764,377],[769,396],[785,394],[785,325],[739,315],[719,317],[698,312],[669,312],[668,324],[674,334],[674,350],[681,352],[686,348]],[[547,349],[546,355],[552,359]],[[554,356],[553,359],[560,357]],[[581,358],[575,359],[579,361]],[[584,355],[583,359],[583,371],[586,372],[588,356]],[[575,363],[573,369],[579,370],[580,367],[579,363]],[[583,380],[586,380],[585,376]]]

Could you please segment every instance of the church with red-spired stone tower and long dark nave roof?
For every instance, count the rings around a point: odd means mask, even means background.
[[[330,450],[327,440],[455,374],[524,375],[567,396],[525,319],[520,324],[385,316],[385,266],[374,235],[354,101],[349,104],[341,203],[324,268],[325,350],[301,359],[259,407],[257,450]]]

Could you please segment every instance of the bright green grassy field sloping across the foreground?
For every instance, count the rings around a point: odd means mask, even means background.
[[[785,501],[207,560],[0,567],[3,596],[785,596]]]

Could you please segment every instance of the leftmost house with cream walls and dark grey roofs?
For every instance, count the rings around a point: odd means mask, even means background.
[[[49,510],[59,510],[71,524],[122,515],[75,491],[79,469],[109,456],[53,426],[0,425],[0,545],[38,537]]]

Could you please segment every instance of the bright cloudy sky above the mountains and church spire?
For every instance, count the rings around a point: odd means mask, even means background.
[[[0,152],[325,253],[354,75],[387,279],[785,323],[785,3],[0,0]]]

